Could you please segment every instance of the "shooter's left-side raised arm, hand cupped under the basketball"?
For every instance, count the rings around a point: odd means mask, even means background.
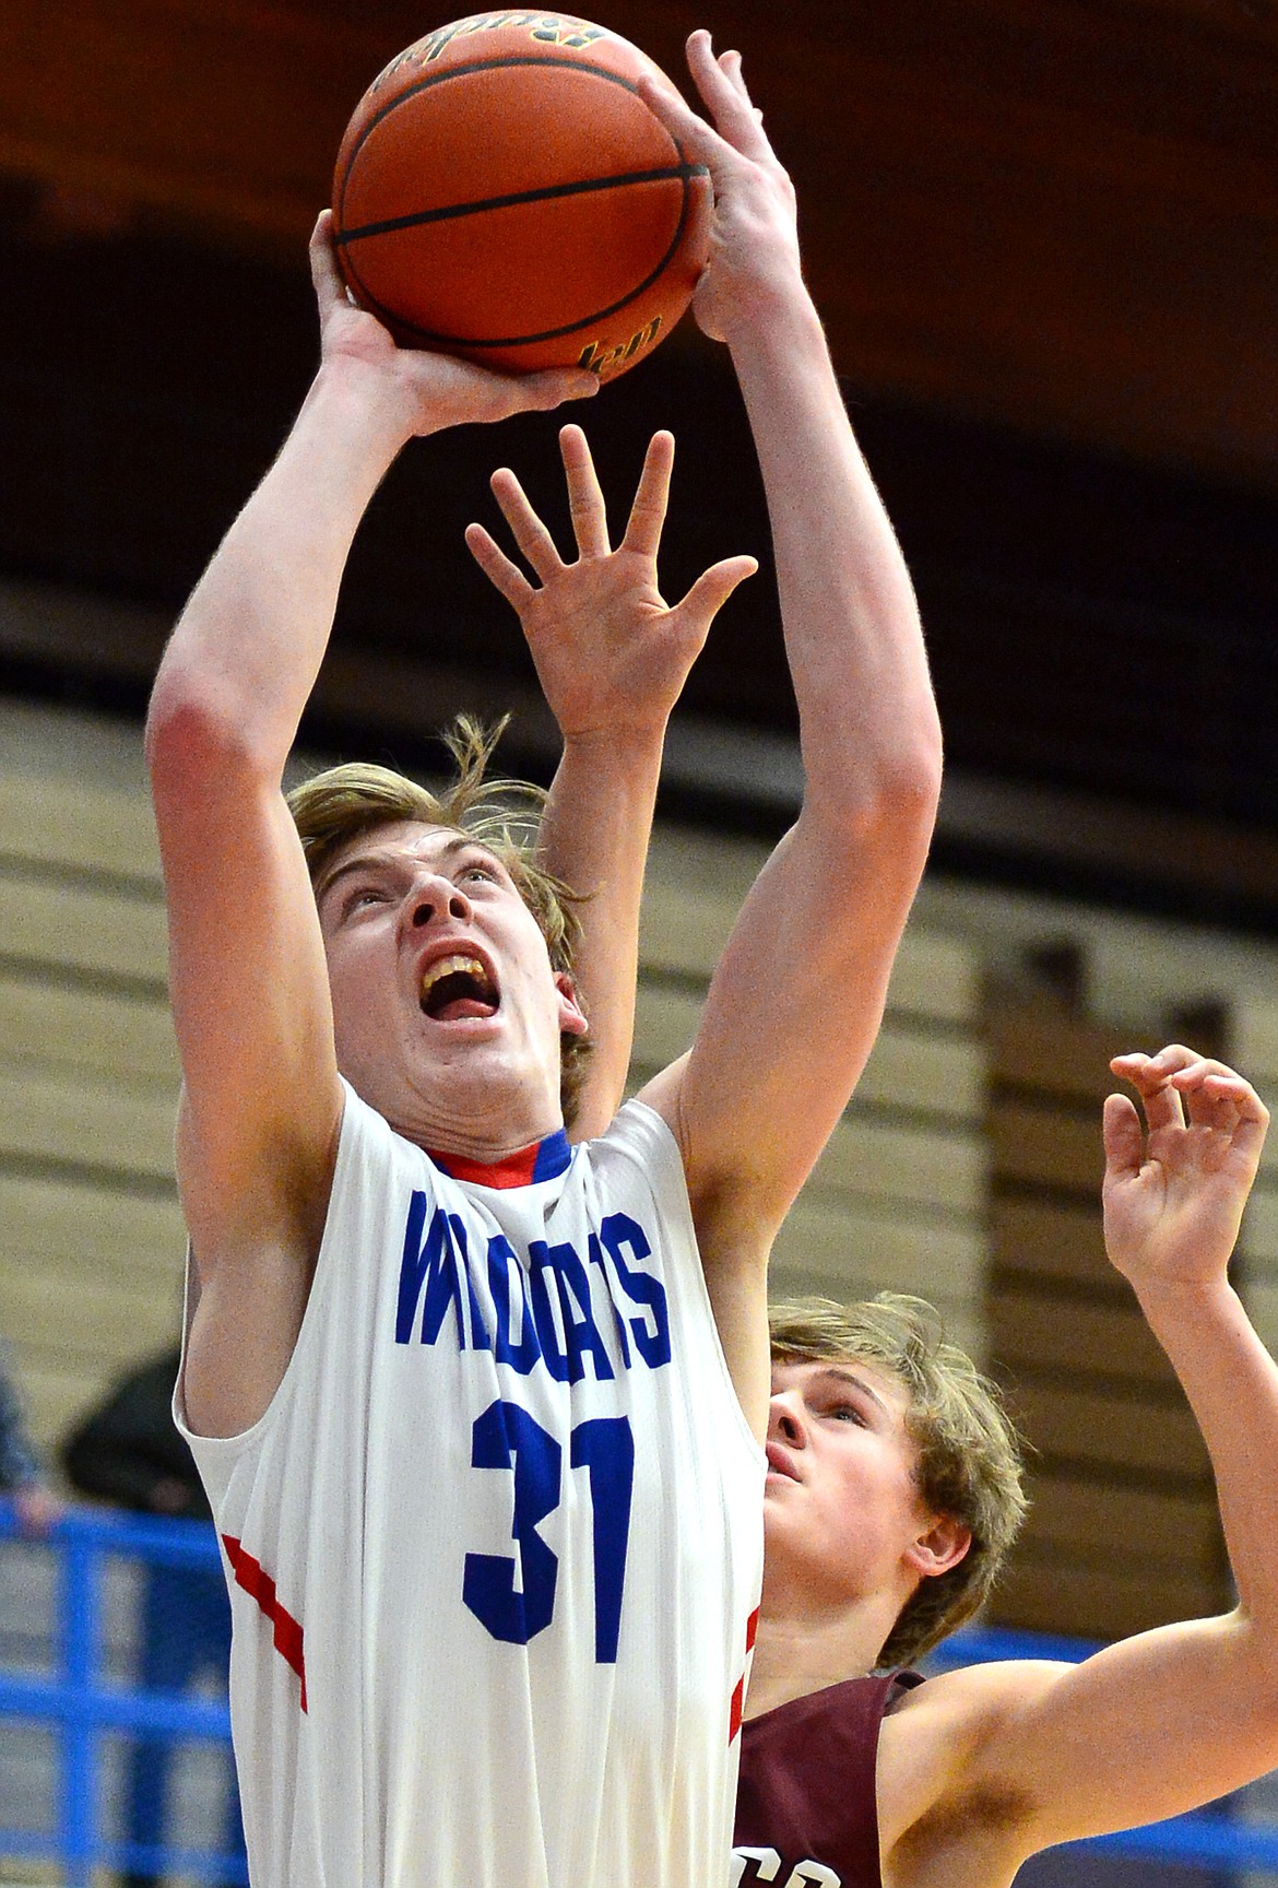
[[[319,374],[174,631],[147,719],[185,1076],[179,1182],[200,1320],[219,1333],[213,1354],[225,1352],[236,1386],[213,1388],[210,1369],[202,1395],[193,1359],[187,1391],[210,1427],[253,1420],[274,1391],[327,1203],[340,1084],[321,935],[281,776],[351,538],[412,434],[553,406],[591,379],[504,379],[396,349],[347,304],[327,215],[311,270]]]

